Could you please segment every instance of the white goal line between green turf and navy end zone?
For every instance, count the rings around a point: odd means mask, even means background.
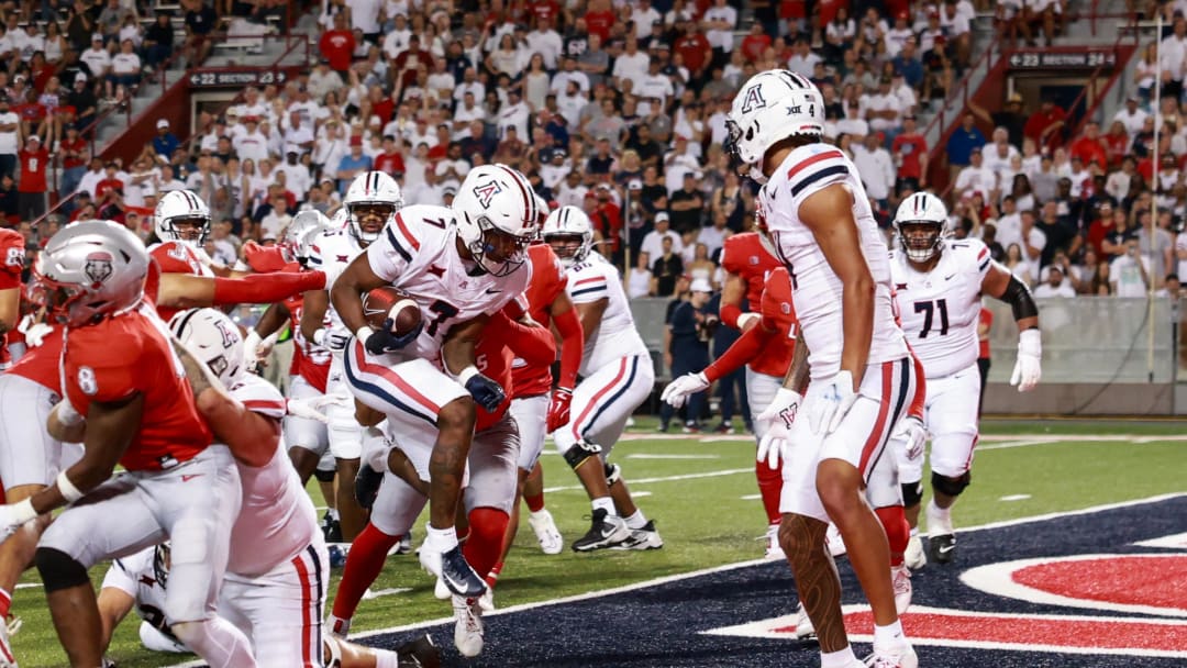
[[[751,471],[751,469],[745,469],[745,471]],[[1026,524],[1028,522],[1042,522],[1042,521],[1046,521],[1046,520],[1055,520],[1055,519],[1059,519],[1059,517],[1074,517],[1077,515],[1090,515],[1092,513],[1102,513],[1102,511],[1105,511],[1105,510],[1116,510],[1116,509],[1119,509],[1119,508],[1129,508],[1129,507],[1143,505],[1143,504],[1148,504],[1148,503],[1159,503],[1159,502],[1162,502],[1162,501],[1168,501],[1168,500],[1172,500],[1172,498],[1179,498],[1179,497],[1182,497],[1182,496],[1187,496],[1187,492],[1163,494],[1163,495],[1159,495],[1159,496],[1151,496],[1151,497],[1148,497],[1148,498],[1137,498],[1137,500],[1132,500],[1132,501],[1122,501],[1122,502],[1118,502],[1118,503],[1106,503],[1106,504],[1103,504],[1103,505],[1093,505],[1093,507],[1090,507],[1090,508],[1083,508],[1080,510],[1068,510],[1068,511],[1065,511],[1065,513],[1048,513],[1046,515],[1035,515],[1034,517],[1022,517],[1022,519],[1018,519],[1018,520],[1009,520],[1009,521],[1004,521],[1004,522],[991,522],[989,524],[982,524],[979,527],[961,528],[960,530],[961,530],[961,533],[965,533],[965,532],[978,532],[978,530],[984,530],[984,529],[996,529],[996,528],[1001,528],[1001,527],[1013,527],[1013,526],[1017,526],[1017,524]],[[691,578],[699,578],[700,575],[710,575],[710,574],[713,574],[713,573],[725,573],[728,571],[736,571],[738,568],[747,568],[749,566],[761,566],[763,564],[772,564],[772,561],[769,561],[767,559],[751,559],[749,561],[738,561],[736,564],[725,564],[723,566],[715,566],[712,568],[703,568],[700,571],[692,571],[690,573],[680,573],[680,574],[677,574],[677,575],[666,575],[666,577],[662,577],[662,578],[655,578],[655,579],[652,579],[652,580],[645,580],[642,583],[634,583],[634,584],[630,584],[630,585],[622,585],[620,587],[612,587],[612,589],[608,589],[608,590],[591,591],[591,592],[586,592],[586,593],[579,593],[579,594],[575,594],[575,596],[566,596],[566,597],[563,597],[563,598],[554,598],[554,599],[550,599],[550,600],[538,600],[535,603],[521,603],[519,605],[512,605],[510,607],[500,607],[499,610],[495,610],[494,612],[488,612],[488,613],[483,615],[483,617],[493,617],[493,616],[496,616],[496,615],[509,615],[512,612],[522,612],[525,610],[537,610],[539,607],[546,607],[546,606],[550,606],[550,605],[560,605],[560,604],[565,604],[565,603],[577,603],[577,602],[582,602],[582,600],[591,600],[591,599],[595,599],[595,598],[602,598],[602,597],[607,597],[607,596],[614,596],[614,594],[620,594],[620,593],[628,593],[628,592],[633,592],[633,591],[645,590],[647,587],[654,587],[654,586],[658,586],[658,585],[666,585],[668,583],[678,583],[680,580],[687,580],[687,579],[691,579]],[[404,631],[413,631],[413,630],[417,630],[417,629],[427,629],[427,628],[431,628],[431,626],[440,626],[440,625],[444,625],[444,624],[449,624],[451,622],[453,622],[453,616],[452,615],[449,616],[449,617],[439,617],[437,619],[427,619],[425,622],[415,622],[415,623],[412,623],[412,624],[404,624],[401,626],[391,626],[391,628],[387,628],[387,629],[375,629],[375,630],[372,630],[372,631],[362,631],[360,634],[351,634],[350,640],[357,641],[360,638],[369,638],[372,636],[381,636],[381,635],[386,635],[386,634],[399,634],[399,632],[404,632]],[[178,663],[178,664],[173,666],[172,668],[198,668],[201,666],[204,666],[204,663],[202,661],[190,661],[190,662],[186,662],[186,663]]]

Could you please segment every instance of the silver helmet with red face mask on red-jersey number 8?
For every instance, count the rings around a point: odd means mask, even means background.
[[[33,265],[30,298],[68,327],[99,323],[140,305],[148,250],[123,225],[82,221],[62,228]]]

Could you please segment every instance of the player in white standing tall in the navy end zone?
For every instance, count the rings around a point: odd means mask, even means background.
[[[895,607],[886,533],[863,495],[915,393],[886,242],[857,168],[823,142],[824,98],[807,78],[787,70],[755,75],[735,96],[726,125],[730,152],[764,184],[758,198],[808,348],[807,395],[801,400],[800,378],[788,377],[770,406],[785,420],[767,438],[789,444],[785,453],[804,462],[783,467],[780,545],[798,587],[810,592],[804,604],[825,666],[863,664],[845,635],[840,583],[824,551],[831,520],[872,607],[871,663],[915,668]]]

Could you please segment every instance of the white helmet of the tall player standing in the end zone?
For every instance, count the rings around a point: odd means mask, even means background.
[[[750,77],[734,96],[725,119],[725,148],[767,183],[762,172],[767,149],[789,136],[824,134],[824,96],[811,81],[789,70],[767,70]]]

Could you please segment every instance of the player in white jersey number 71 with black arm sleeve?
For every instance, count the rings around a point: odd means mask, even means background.
[[[922,424],[914,438],[896,441],[903,502],[912,527],[908,562],[927,558],[947,564],[956,558],[952,505],[972,481],[977,446],[980,371],[977,325],[980,297],[1010,304],[1018,325],[1018,356],[1010,383],[1033,389],[1042,375],[1039,308],[1030,288],[989,256],[979,240],[948,238],[948,210],[939,197],[916,192],[899,205],[894,220],[901,248],[890,259],[902,329],[927,377]],[[932,439],[932,501],[927,504],[927,552],[918,533],[923,497],[922,441]]]

